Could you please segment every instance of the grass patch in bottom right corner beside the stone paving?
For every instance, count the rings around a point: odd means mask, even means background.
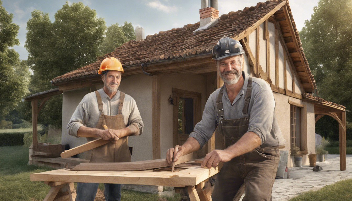
[[[290,201],[351,201],[352,179],[338,181],[317,191],[307,191]]]

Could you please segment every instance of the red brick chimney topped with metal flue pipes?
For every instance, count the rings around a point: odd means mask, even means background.
[[[201,9],[199,10],[200,21],[199,27],[205,26],[219,18],[218,1],[202,0]]]

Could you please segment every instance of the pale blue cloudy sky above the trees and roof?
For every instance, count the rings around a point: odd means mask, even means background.
[[[115,23],[123,25],[131,22],[134,27],[144,28],[145,36],[183,27],[199,21],[200,0],[81,0],[84,5],[96,10],[98,17],[104,18],[106,26]],[[309,20],[314,6],[319,0],[290,0],[293,18],[298,31],[304,26],[304,20]],[[13,13],[13,23],[20,26],[17,38],[20,45],[13,48],[19,53],[20,59],[27,59],[28,52],[24,47],[26,41],[26,23],[31,18],[31,12],[36,9],[49,13],[51,21],[55,21],[55,13],[62,8],[65,0],[2,0],[2,6],[7,12]],[[68,1],[79,2],[75,0]],[[265,0],[218,0],[219,16],[231,11],[243,10],[255,6]]]

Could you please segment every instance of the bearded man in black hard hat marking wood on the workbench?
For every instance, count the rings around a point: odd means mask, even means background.
[[[215,129],[224,137],[224,150],[213,150],[201,167],[224,166],[215,176],[213,201],[271,200],[279,161],[279,146],[285,144],[275,116],[275,100],[269,84],[241,71],[244,63],[241,44],[221,38],[213,48],[213,59],[224,86],[213,92],[183,145],[166,153],[169,163],[202,148]]]

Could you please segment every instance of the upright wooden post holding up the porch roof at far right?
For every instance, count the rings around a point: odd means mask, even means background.
[[[342,112],[341,121],[346,128],[346,112]],[[346,170],[346,130],[341,124],[339,124],[339,141],[340,141],[340,170]]]

